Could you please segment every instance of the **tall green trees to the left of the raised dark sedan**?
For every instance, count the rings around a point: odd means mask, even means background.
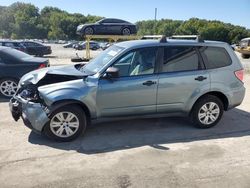
[[[55,7],[41,11],[29,3],[0,6],[0,37],[12,39],[78,39],[76,27],[93,23],[100,16],[70,14]]]

